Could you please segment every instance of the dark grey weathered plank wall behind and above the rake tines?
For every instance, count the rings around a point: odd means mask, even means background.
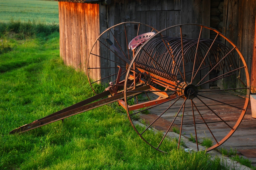
[[[105,31],[110,26],[121,22],[141,22],[154,27],[160,31],[164,28],[177,24],[197,23],[210,26],[210,3],[207,0],[112,0],[110,5],[100,5],[100,32]],[[198,38],[200,28],[187,27],[182,30],[184,38]],[[134,37],[127,39],[132,40]],[[180,37],[180,29],[174,31],[174,36]],[[202,37],[210,38],[210,31],[203,32]],[[116,38],[124,39],[124,37]],[[118,40],[119,41],[119,40]],[[121,41],[121,40],[120,40]],[[102,66],[103,67],[103,66]],[[189,65],[188,67],[193,67]],[[101,72],[106,77],[116,72]],[[207,72],[202,72],[199,76],[205,76]],[[207,78],[205,79],[205,81]],[[206,84],[203,88],[209,88]]]

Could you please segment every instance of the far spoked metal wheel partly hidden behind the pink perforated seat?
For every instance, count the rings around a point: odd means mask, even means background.
[[[121,80],[127,71],[127,62],[132,60],[133,52],[129,49],[129,42],[136,36],[146,32],[157,32],[153,27],[139,22],[123,22],[108,28],[95,41],[88,61],[87,75],[92,90],[98,91],[98,84],[105,87],[109,82],[115,83],[122,68]]]

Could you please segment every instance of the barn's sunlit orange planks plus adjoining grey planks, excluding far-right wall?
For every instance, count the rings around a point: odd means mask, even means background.
[[[84,71],[89,50],[98,35],[120,22],[142,22],[157,30],[181,23],[210,26],[210,3],[207,0],[112,0],[110,5],[102,5],[100,1],[58,1],[60,55],[67,65]],[[195,38],[193,35],[199,31],[191,28],[183,33],[186,38]],[[209,32],[204,34],[203,37],[209,38]],[[100,65],[99,61],[94,64]]]

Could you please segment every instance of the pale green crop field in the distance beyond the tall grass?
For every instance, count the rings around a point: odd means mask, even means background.
[[[59,23],[57,1],[45,0],[1,0],[0,22],[28,20],[40,23]]]

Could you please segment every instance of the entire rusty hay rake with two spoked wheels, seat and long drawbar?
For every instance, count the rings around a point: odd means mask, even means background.
[[[215,34],[214,40],[203,37],[210,30]],[[217,30],[198,24],[181,24],[159,32],[138,22],[117,24],[94,43],[88,56],[87,74],[95,96],[16,128],[10,134],[117,101],[126,109],[135,131],[156,150],[163,151],[163,141],[173,127],[179,128],[179,147],[185,125],[193,129],[198,148],[198,133],[202,129],[197,127],[204,124],[214,141],[207,148],[210,151],[235,132],[249,102],[249,74],[240,51]],[[94,87],[100,83],[109,86],[97,94]],[[209,89],[216,84],[220,88]],[[226,92],[239,92],[245,99],[239,104],[230,103],[218,95]],[[224,108],[230,112],[224,113]],[[143,127],[135,125],[144,114],[154,115],[154,120],[145,120]],[[144,135],[163,117],[168,118],[170,125],[157,144],[152,143],[154,136]],[[218,125],[226,128],[226,132],[216,132],[214,126]]]

